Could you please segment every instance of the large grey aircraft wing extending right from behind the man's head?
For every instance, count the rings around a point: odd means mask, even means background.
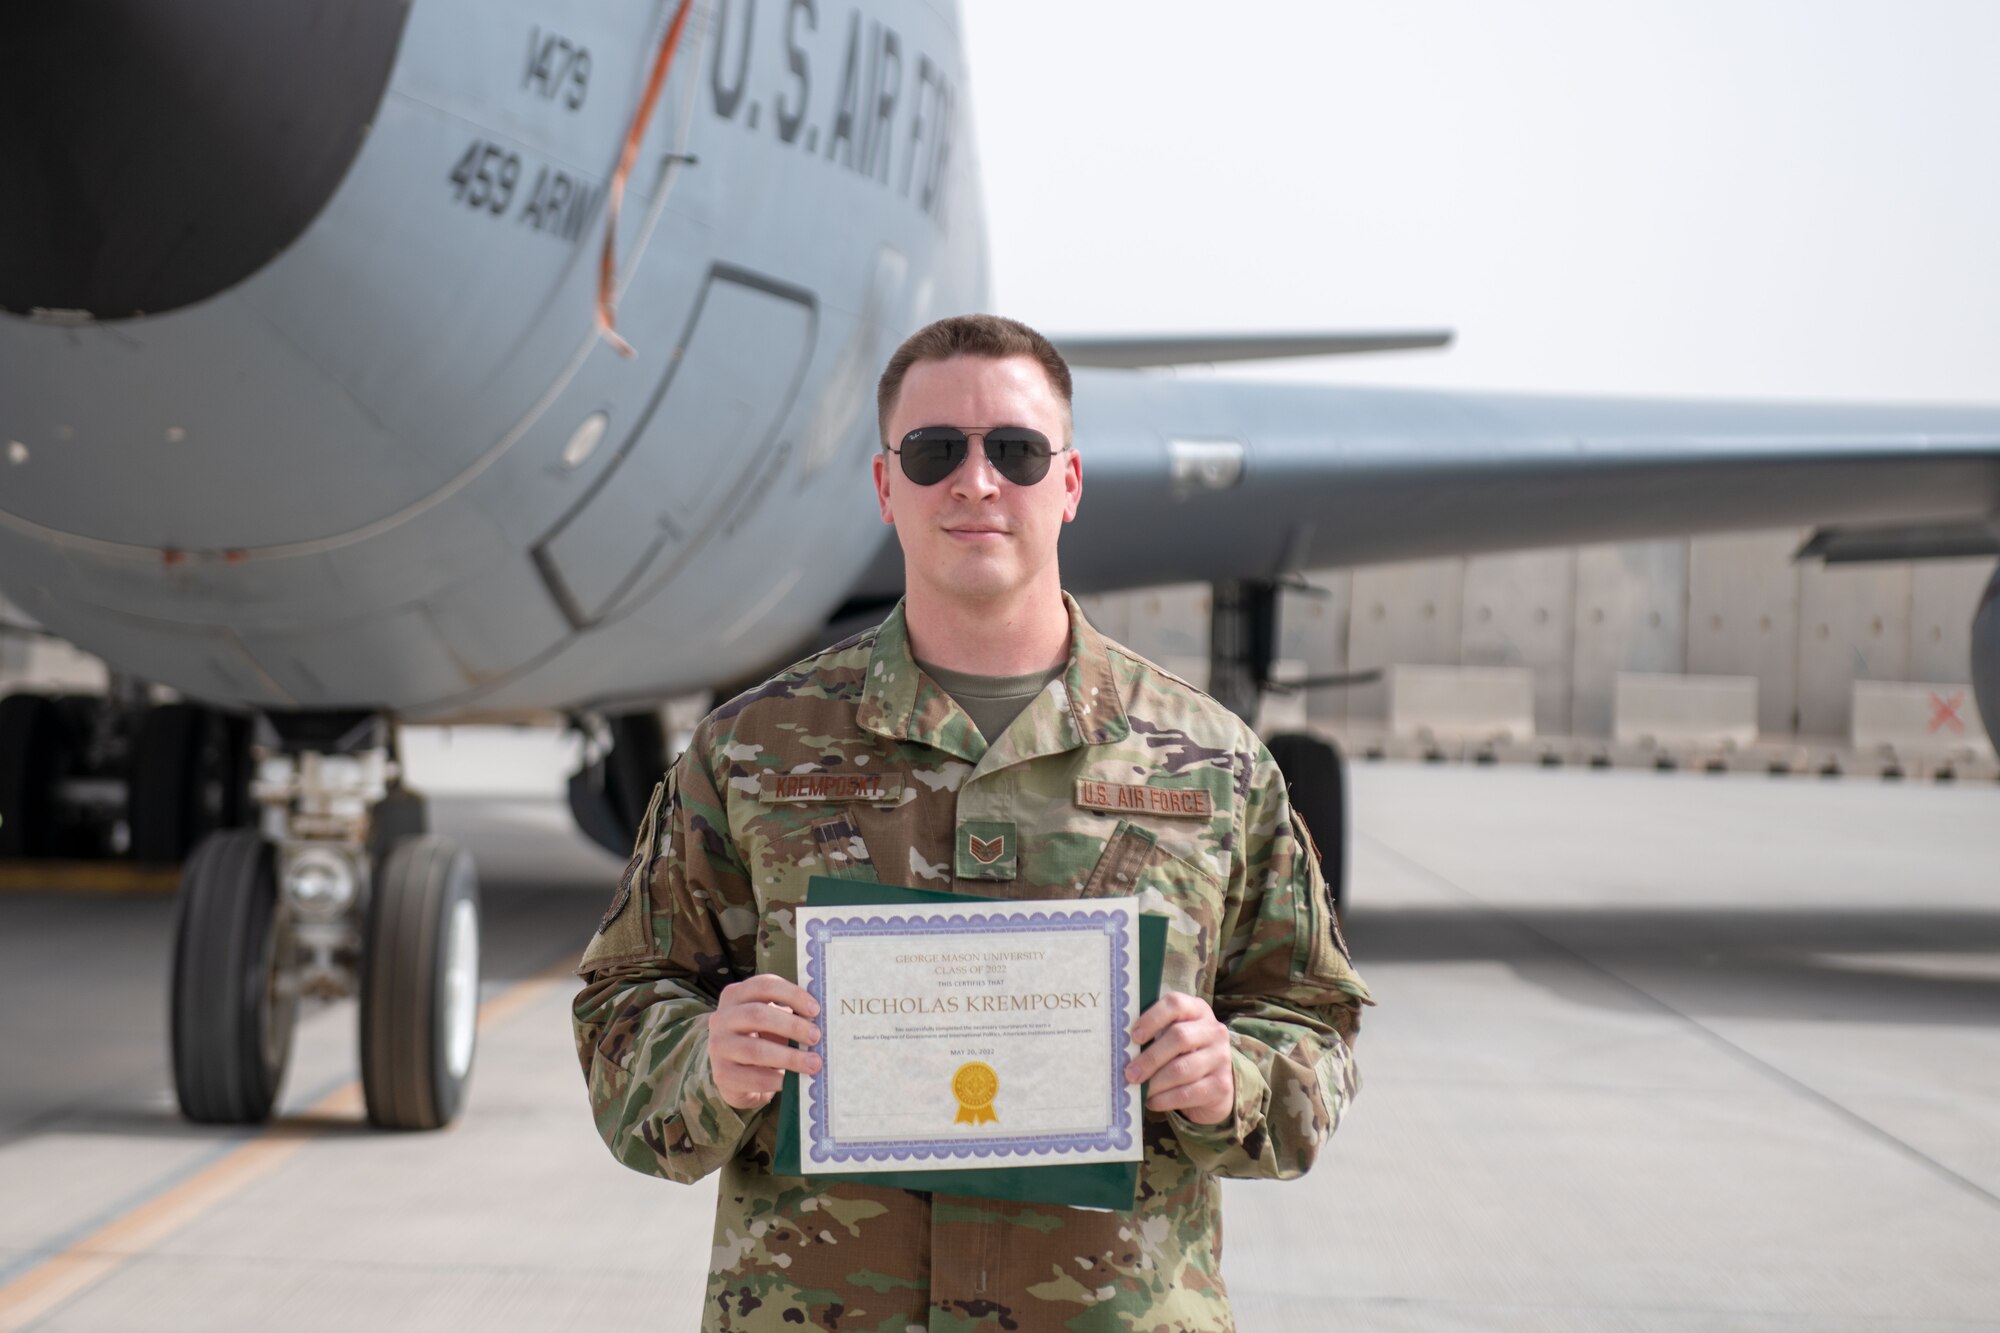
[[[2000,406],[1076,374],[1064,582],[1112,590],[1786,524],[1986,526]]]

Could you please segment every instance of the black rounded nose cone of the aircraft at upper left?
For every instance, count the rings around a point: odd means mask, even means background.
[[[156,314],[284,250],[354,160],[408,0],[0,4],[0,310]]]

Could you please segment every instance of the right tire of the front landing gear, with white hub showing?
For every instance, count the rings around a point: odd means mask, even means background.
[[[362,1093],[382,1129],[442,1129],[466,1101],[480,1003],[480,881],[434,833],[398,839],[368,905]]]

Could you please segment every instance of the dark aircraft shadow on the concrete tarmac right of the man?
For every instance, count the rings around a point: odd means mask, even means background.
[[[1354,961],[1502,963],[1558,999],[1802,1023],[2000,1025],[2000,913],[1358,907]]]

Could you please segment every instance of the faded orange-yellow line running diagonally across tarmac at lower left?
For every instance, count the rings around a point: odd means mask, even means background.
[[[566,959],[520,981],[480,1005],[480,1027],[490,1029],[520,1013],[544,991],[574,975],[576,961]],[[258,1181],[290,1161],[312,1139],[324,1135],[328,1121],[354,1121],[364,1115],[360,1081],[348,1083],[294,1121],[276,1121],[260,1135],[224,1157],[202,1167],[188,1179],[152,1195],[104,1223],[0,1287],[0,1333],[26,1329],[70,1297],[98,1285],[132,1259],[186,1227],[244,1185]]]

